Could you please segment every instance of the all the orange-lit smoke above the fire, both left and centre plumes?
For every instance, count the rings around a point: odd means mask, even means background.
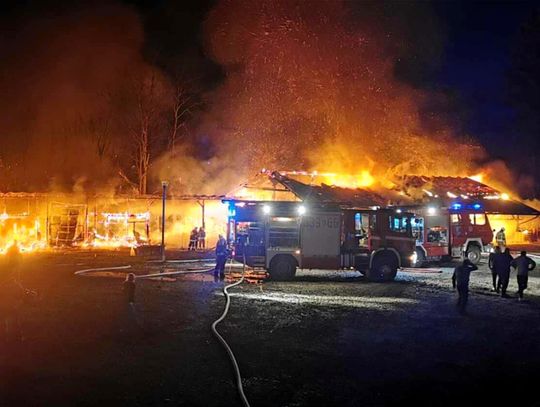
[[[147,102],[160,135],[171,84],[143,58],[130,7],[49,13],[5,18],[0,34],[0,190],[118,191],[119,168],[136,173],[133,82],[156,78]],[[486,161],[453,130],[444,95],[422,89],[443,42],[427,3],[223,0],[203,32],[225,79],[183,145],[150,146],[154,186],[222,194],[262,168],[391,180],[470,175]]]

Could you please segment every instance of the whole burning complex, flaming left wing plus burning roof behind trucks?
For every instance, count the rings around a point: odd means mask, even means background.
[[[313,201],[353,207],[440,205],[479,202],[491,226],[505,227],[510,244],[537,241],[540,212],[506,193],[466,177],[405,176],[390,186],[346,188],[319,182],[329,174],[264,170],[227,198]],[[224,196],[167,199],[166,242],[185,248],[194,227],[213,242],[226,230]],[[17,242],[22,251],[47,247],[119,248],[159,243],[161,197],[72,196],[47,193],[0,194],[0,253]]]

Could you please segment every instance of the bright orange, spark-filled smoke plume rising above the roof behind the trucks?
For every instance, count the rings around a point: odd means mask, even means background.
[[[426,130],[434,95],[396,78],[399,63],[418,54],[407,27],[420,22],[380,4],[226,0],[211,11],[207,50],[227,79],[202,129],[222,154],[235,151],[232,168],[470,172],[483,150],[444,117]],[[429,13],[420,17],[436,26]]]

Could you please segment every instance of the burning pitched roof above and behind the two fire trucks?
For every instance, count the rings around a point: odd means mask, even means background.
[[[402,176],[364,187],[356,187],[357,183],[352,182],[347,188],[342,183],[338,186],[325,181],[354,179],[355,176],[266,170],[262,175],[249,188],[244,188],[246,194],[252,191],[248,198],[324,202],[359,208],[478,205],[494,230],[505,228],[509,244],[538,240],[540,212],[537,209],[472,177]],[[266,183],[261,178],[267,178]],[[280,194],[277,199],[272,193],[274,190]]]

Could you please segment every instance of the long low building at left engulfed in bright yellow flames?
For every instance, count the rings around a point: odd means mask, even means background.
[[[213,242],[224,232],[221,196],[169,197],[165,239],[186,248],[194,227]],[[118,249],[161,242],[161,196],[79,197],[0,194],[0,253],[16,243],[22,252],[45,248]]]

